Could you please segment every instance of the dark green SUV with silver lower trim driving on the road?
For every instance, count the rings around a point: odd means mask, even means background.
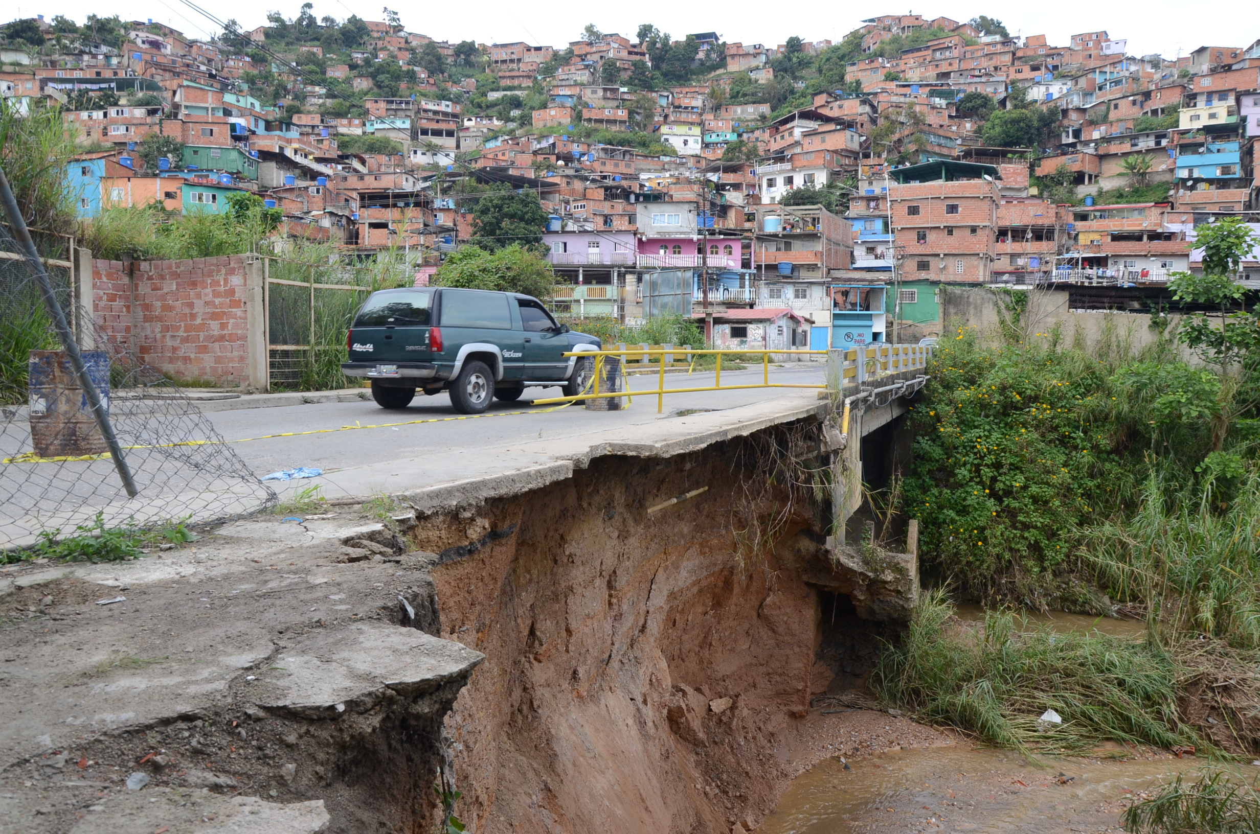
[[[528,386],[581,393],[590,362],[566,353],[600,350],[600,340],[557,324],[538,299],[513,292],[404,287],[373,292],[345,336],[348,377],[372,380],[383,408],[406,408],[420,388],[451,392],[462,414],[491,397],[518,399]]]

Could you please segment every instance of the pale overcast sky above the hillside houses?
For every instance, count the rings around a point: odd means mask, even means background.
[[[246,29],[266,23],[266,13],[277,9],[286,16],[296,16],[301,3],[290,0],[285,5],[276,3],[256,3],[247,0],[202,0],[199,6],[220,19],[236,18]],[[449,40],[476,40],[479,43],[528,40],[532,43],[562,45],[577,39],[582,26],[593,23],[604,31],[620,31],[633,37],[641,23],[653,23],[675,38],[693,31],[707,31],[716,28],[723,40],[743,43],[765,43],[776,45],[790,35],[800,35],[808,40],[839,40],[847,31],[861,25],[859,14],[896,14],[895,6],[867,6],[867,11],[845,11],[830,4],[785,5],[753,0],[727,0],[721,6],[713,4],[684,3],[634,4],[627,3],[591,4],[564,15],[552,13],[538,14],[534,8],[522,6],[510,0],[460,0],[457,3],[426,3],[423,6],[398,4],[408,31],[421,31],[433,38]],[[391,6],[394,8],[394,6]],[[547,6],[548,9],[564,8]],[[1145,3],[1106,3],[1096,0],[1058,0],[1057,3],[992,4],[989,8],[969,3],[945,3],[936,6],[911,6],[914,11],[926,18],[945,15],[955,20],[966,20],[978,14],[989,14],[1005,23],[1011,34],[1045,34],[1052,45],[1066,45],[1068,35],[1077,31],[1105,29],[1113,39],[1126,39],[1130,54],[1143,55],[1159,53],[1176,58],[1178,50],[1186,54],[1202,45],[1247,47],[1260,38],[1260,4],[1250,0],[1227,3],[1217,6],[1213,15],[1189,14],[1196,4],[1172,3],[1171,0],[1148,0]],[[423,9],[423,11],[421,11]],[[714,24],[713,11],[722,24]],[[819,13],[820,9],[827,11]],[[381,9],[355,0],[315,0],[315,16],[333,15],[344,19],[358,14],[368,20],[382,20]],[[66,0],[55,6],[19,3],[18,16],[43,14],[52,19],[64,14],[78,23],[88,14],[110,15],[117,13],[123,18],[152,18],[180,29],[190,37],[207,37],[215,33],[217,26],[184,5],[181,0]]]

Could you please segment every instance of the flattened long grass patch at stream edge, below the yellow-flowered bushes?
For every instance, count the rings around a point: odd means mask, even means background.
[[[942,592],[925,595],[872,678],[888,703],[994,745],[1072,752],[1102,738],[1158,747],[1197,741],[1177,705],[1177,665],[1157,644],[1029,627],[1009,612],[953,620]],[[1063,723],[1038,727],[1046,709]]]

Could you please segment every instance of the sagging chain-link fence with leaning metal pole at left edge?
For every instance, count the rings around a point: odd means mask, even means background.
[[[197,406],[84,314],[73,241],[38,231],[32,237],[107,406],[136,495],[123,488],[34,267],[15,231],[0,224],[0,548],[69,535],[97,518],[106,528],[199,524],[272,505],[275,493]]]

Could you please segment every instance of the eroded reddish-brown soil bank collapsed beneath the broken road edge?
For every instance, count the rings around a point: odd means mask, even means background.
[[[478,834],[751,828],[830,755],[810,741],[811,695],[864,683],[912,571],[856,554],[833,567],[818,505],[761,490],[767,448],[822,451],[816,423],[798,428],[600,457],[421,519],[418,546],[442,556],[442,636],[486,655],[446,719]],[[735,532],[786,506],[774,547],[741,571]]]

